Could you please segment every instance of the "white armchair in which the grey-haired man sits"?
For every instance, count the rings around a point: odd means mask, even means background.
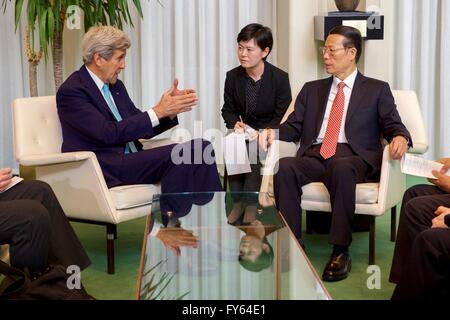
[[[13,102],[14,152],[22,166],[34,167],[36,179],[47,182],[71,221],[106,226],[108,273],[114,273],[117,224],[150,214],[159,185],[108,189],[93,152],[61,153],[62,133],[55,96]],[[157,140],[154,146],[174,143]]]

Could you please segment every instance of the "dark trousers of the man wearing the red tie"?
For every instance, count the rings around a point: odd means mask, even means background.
[[[320,155],[320,147],[312,146],[302,157],[280,160],[274,177],[275,201],[295,236],[301,238],[302,187],[323,182],[332,208],[330,243],[348,246],[352,241],[356,184],[364,182],[369,168],[348,144],[338,144],[335,156],[328,160]]]

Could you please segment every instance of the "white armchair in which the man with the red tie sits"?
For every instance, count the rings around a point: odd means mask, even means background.
[[[428,140],[420,111],[419,101],[413,91],[393,91],[398,112],[403,123],[411,133],[414,148],[409,153],[423,154],[428,149]],[[283,122],[294,110],[294,103],[289,107]],[[280,158],[294,157],[298,145],[275,141],[269,149],[266,165],[263,169],[260,203],[270,204],[273,197],[273,173]],[[371,216],[369,231],[369,264],[375,263],[375,217],[382,216],[391,209],[391,241],[395,241],[396,206],[401,202],[406,191],[405,175],[400,171],[400,162],[389,156],[389,146],[384,149],[379,183],[362,183],[356,187],[356,214]],[[311,211],[331,212],[330,195],[323,183],[310,183],[303,187],[302,208]]]

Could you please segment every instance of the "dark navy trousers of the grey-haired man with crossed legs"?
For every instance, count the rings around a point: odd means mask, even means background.
[[[124,184],[161,183],[163,193],[222,191],[211,143],[197,139],[125,156]]]

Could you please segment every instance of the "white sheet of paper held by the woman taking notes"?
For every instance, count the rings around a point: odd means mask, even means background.
[[[245,145],[245,134],[231,133],[225,137],[225,166],[229,176],[252,171]]]

